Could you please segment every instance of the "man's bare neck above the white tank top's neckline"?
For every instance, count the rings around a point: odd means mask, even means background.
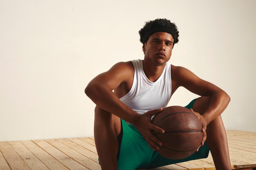
[[[162,75],[164,71],[165,63],[162,65],[153,65],[143,60],[143,71],[146,77],[151,81],[155,82]]]

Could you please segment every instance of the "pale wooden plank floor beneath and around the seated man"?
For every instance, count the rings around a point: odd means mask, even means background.
[[[232,169],[255,170],[256,132],[227,131]],[[101,170],[94,138],[0,142],[0,170]],[[211,155],[153,170],[215,170]]]

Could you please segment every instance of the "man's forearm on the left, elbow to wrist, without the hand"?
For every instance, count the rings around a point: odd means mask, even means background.
[[[110,88],[101,83],[90,83],[85,88],[85,94],[101,109],[112,113],[131,124],[139,115],[126,104],[121,102]]]

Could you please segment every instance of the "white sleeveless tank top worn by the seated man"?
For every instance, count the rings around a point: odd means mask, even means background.
[[[171,64],[166,63],[162,75],[150,82],[143,71],[142,60],[132,60],[134,77],[132,88],[120,100],[139,114],[165,108],[171,98]]]

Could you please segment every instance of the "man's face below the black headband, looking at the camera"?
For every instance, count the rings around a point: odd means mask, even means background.
[[[173,42],[173,36],[169,33],[153,33],[142,46],[142,50],[145,52],[144,60],[155,65],[165,64],[170,60]]]

